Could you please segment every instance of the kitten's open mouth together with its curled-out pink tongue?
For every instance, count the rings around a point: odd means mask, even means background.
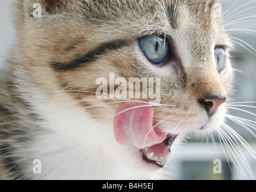
[[[121,145],[141,150],[147,163],[163,167],[170,158],[171,145],[177,135],[167,134],[153,126],[154,109],[144,103],[121,104],[114,118],[115,139]]]

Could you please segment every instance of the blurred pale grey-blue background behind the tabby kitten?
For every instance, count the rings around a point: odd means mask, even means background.
[[[0,0],[0,70],[5,66],[16,39],[12,22],[13,2]],[[188,139],[180,147],[172,149],[175,158],[165,167],[165,173],[170,179],[256,178],[255,152],[252,152],[256,151],[256,2],[224,0],[222,8],[226,28],[236,46],[232,52],[233,67],[236,68],[236,92],[233,95],[233,106],[230,106],[233,109],[229,109],[229,114],[240,118],[235,120],[229,116],[233,121],[227,118],[227,125],[244,140],[239,137],[234,139],[228,133],[225,133],[226,137],[222,141],[218,134],[208,139]],[[191,134],[190,137],[194,136]],[[224,141],[231,144],[226,146]],[[239,141],[243,145],[236,145]],[[247,150],[249,146],[251,152]]]

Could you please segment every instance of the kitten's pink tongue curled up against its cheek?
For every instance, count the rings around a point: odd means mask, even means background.
[[[165,133],[153,128],[154,109],[147,104],[123,103],[115,114],[115,139],[122,145],[131,144],[142,149],[162,143],[166,139]]]

